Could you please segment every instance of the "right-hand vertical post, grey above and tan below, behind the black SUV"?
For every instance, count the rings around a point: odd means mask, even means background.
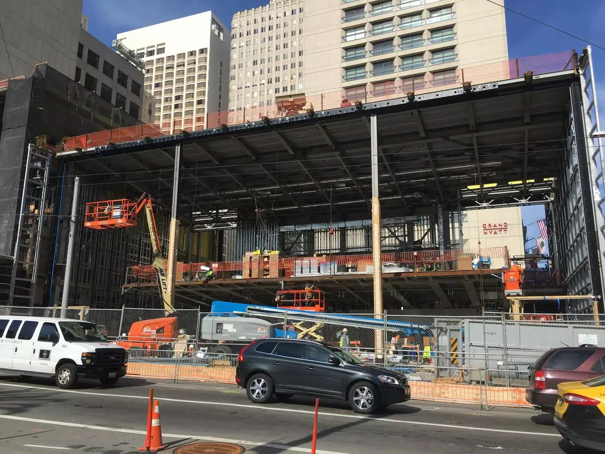
[[[382,317],[382,257],[381,257],[381,220],[380,200],[378,198],[378,119],[370,116],[370,152],[372,175],[372,262],[374,263],[374,317]],[[382,357],[384,336],[381,330],[374,332],[376,357]]]

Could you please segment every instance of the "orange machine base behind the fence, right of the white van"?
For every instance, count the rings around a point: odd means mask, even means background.
[[[177,317],[153,318],[132,323],[128,337],[117,344],[127,349],[131,357],[145,356],[150,350],[172,357],[172,342],[177,338]]]

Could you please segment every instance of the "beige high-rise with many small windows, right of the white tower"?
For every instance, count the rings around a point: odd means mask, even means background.
[[[256,111],[257,116],[264,110],[286,111],[304,94],[303,36],[302,0],[271,0],[235,13],[229,61],[231,122],[247,118],[246,111]]]

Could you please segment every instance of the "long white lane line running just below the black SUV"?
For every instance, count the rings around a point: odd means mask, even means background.
[[[53,392],[67,392],[67,393],[73,393],[73,394],[83,394],[83,395],[92,395],[92,396],[117,397],[120,399],[123,399],[123,398],[142,399],[142,400],[149,399],[148,396],[132,396],[132,395],[125,395],[125,394],[110,394],[110,393],[103,393],[103,392],[76,391],[76,390],[71,390],[71,389],[28,386],[25,384],[15,384],[15,383],[0,383],[0,386],[13,386],[13,387],[18,387],[18,388],[50,390]],[[156,398],[156,397],[154,396],[154,398]],[[202,401],[202,400],[171,399],[171,398],[163,398],[163,397],[162,398],[157,397],[157,399],[160,401],[177,402],[177,403],[183,403],[183,404],[215,405],[215,406],[220,406],[220,407],[239,407],[239,408],[260,409],[260,410],[263,410],[263,412],[287,412],[287,413],[304,413],[306,415],[315,415],[315,411],[298,410],[298,409],[283,408],[283,407],[269,407],[269,406],[262,406],[262,405],[253,405],[253,404],[234,404],[231,402],[212,402],[212,401]],[[335,416],[337,418],[371,419],[371,420],[378,421],[381,423],[413,424],[416,426],[445,427],[447,429],[478,430],[479,432],[497,432],[497,433],[511,433],[511,434],[520,434],[520,435],[555,436],[557,438],[561,437],[561,435],[559,435],[558,433],[520,432],[518,430],[491,429],[490,427],[472,427],[472,426],[457,426],[456,424],[425,423],[423,421],[381,418],[381,416],[345,415],[344,413],[330,413],[330,412],[319,412],[318,414],[322,415],[322,416]]]

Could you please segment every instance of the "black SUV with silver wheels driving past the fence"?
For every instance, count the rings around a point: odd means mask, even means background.
[[[405,375],[315,341],[255,341],[241,350],[235,381],[259,404],[274,394],[282,400],[296,394],[348,400],[358,413],[376,413],[410,400]]]

